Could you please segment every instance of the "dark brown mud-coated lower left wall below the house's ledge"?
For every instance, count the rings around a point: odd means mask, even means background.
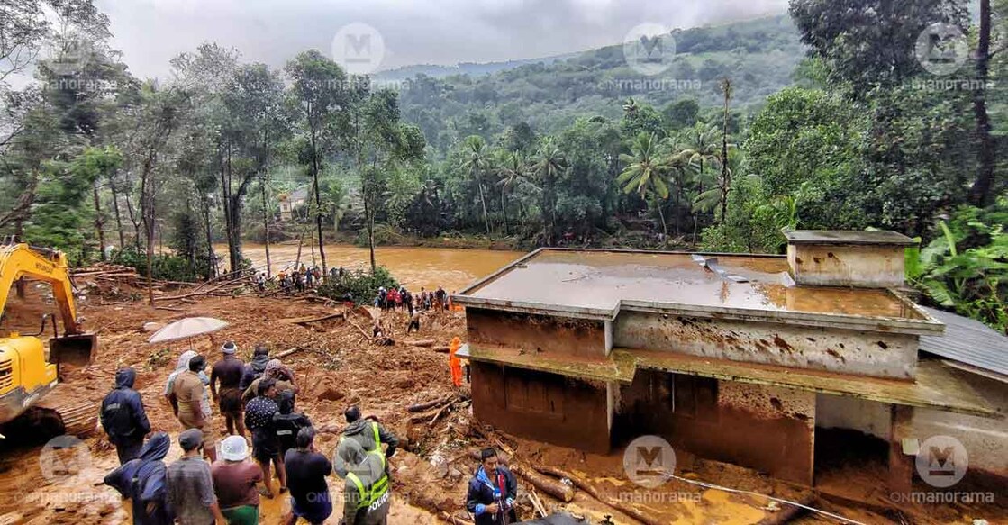
[[[473,362],[473,415],[504,431],[607,453],[606,385],[555,374]]]

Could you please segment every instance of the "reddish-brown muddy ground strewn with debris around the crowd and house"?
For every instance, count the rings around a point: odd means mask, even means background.
[[[177,293],[165,290],[163,295]],[[40,297],[30,297],[39,299]],[[766,498],[704,489],[684,482],[670,482],[654,490],[644,490],[629,482],[623,474],[622,449],[609,455],[587,454],[578,450],[517,439],[473,421],[465,402],[409,413],[406,407],[458,394],[451,385],[448,357],[428,347],[407,344],[409,341],[433,340],[434,346],[448,345],[454,336],[465,336],[462,312],[430,315],[423,320],[419,336],[406,338],[405,315],[386,317],[398,343],[376,347],[362,335],[369,319],[350,315],[347,320],[333,319],[306,324],[289,319],[333,312],[336,307],[304,298],[194,297],[188,302],[159,301],[155,309],[141,302],[100,304],[92,296],[82,302],[82,314],[90,330],[99,334],[100,349],[94,364],[73,371],[60,386],[59,395],[73,400],[98,404],[111,388],[117,368],[132,366],[138,371],[136,388],[154,430],[169,432],[174,439],[179,425],[161,396],[164,381],[176,357],[186,350],[185,343],[171,346],[148,346],[145,322],[166,323],[184,316],[209,315],[223,318],[231,325],[211,337],[193,341],[193,347],[209,357],[219,358],[220,344],[233,340],[239,355],[247,359],[256,343],[266,344],[273,354],[299,349],[283,359],[297,376],[301,388],[298,409],[304,411],[317,427],[331,430],[322,433],[317,448],[332,455],[337,433],[343,425],[342,412],[349,404],[358,404],[366,414],[378,417],[403,441],[400,452],[392,458],[394,506],[390,523],[471,523],[464,509],[466,484],[476,467],[471,453],[482,446],[497,445],[511,450],[510,461],[526,466],[552,466],[591,483],[606,500],[653,517],[656,523],[774,523],[787,515],[786,505],[775,506]],[[23,324],[24,332],[37,331],[38,306],[13,301],[8,305],[10,322]],[[356,325],[355,325],[356,324]],[[10,324],[5,324],[5,327]],[[32,330],[28,330],[28,327]],[[410,419],[414,422],[410,422]],[[432,422],[431,422],[432,421]],[[217,429],[224,431],[223,419],[215,416]],[[105,474],[117,466],[114,449],[101,431],[84,440],[85,457],[75,456],[67,465],[67,474],[43,473],[51,465],[51,455],[40,446],[0,449],[0,525],[66,523],[75,525],[128,522],[123,503],[112,489],[102,485]],[[1008,510],[992,505],[903,505],[895,510],[882,497],[883,473],[871,469],[842,472],[831,483],[845,487],[848,497],[815,497],[807,488],[773,481],[745,469],[696,458],[677,452],[676,474],[704,481],[773,495],[811,505],[861,523],[973,523],[984,518],[989,523],[1008,522]],[[169,460],[177,457],[173,443]],[[48,458],[46,458],[48,457]],[[41,460],[41,461],[40,461]],[[529,489],[519,478],[521,493]],[[330,482],[337,508],[342,507],[342,483]],[[566,510],[585,516],[592,523],[638,523],[612,506],[602,503],[583,490],[576,491],[573,502],[561,504],[538,492],[547,510]],[[289,510],[286,497],[263,500],[262,523],[278,523]],[[531,519],[532,506],[520,496],[520,517]],[[783,507],[783,509],[781,509]],[[801,514],[799,523],[837,523],[814,514]],[[338,523],[339,512],[328,523]]]

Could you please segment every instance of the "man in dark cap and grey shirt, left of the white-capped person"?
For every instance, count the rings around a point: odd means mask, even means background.
[[[168,466],[168,503],[181,525],[225,523],[214,495],[210,464],[203,461],[203,432],[190,428],[178,434],[182,456]]]

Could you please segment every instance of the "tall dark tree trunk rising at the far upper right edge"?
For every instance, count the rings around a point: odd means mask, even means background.
[[[970,203],[983,207],[991,201],[994,184],[994,141],[987,114],[987,79],[991,59],[991,0],[980,0],[980,32],[977,35],[977,86],[973,89],[973,114],[977,122],[977,147],[980,169],[970,188]]]

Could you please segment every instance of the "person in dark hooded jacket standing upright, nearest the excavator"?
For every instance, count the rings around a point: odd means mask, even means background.
[[[136,371],[123,368],[116,372],[116,386],[102,400],[100,418],[109,441],[116,445],[119,465],[140,455],[143,437],[150,432],[150,421],[143,409],[140,393],[133,390]]]

